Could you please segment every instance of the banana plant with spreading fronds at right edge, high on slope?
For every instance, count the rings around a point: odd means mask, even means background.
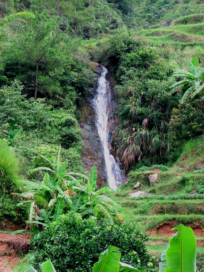
[[[175,93],[179,87],[187,87],[187,90],[182,96],[181,103],[185,102],[189,96],[193,98],[204,89],[204,68],[199,67],[198,57],[194,57],[192,62],[188,62],[188,65],[191,72],[175,69],[173,76],[183,77],[184,79],[170,86],[170,88],[173,89],[169,92],[169,95]],[[202,99],[203,98],[204,96]]]

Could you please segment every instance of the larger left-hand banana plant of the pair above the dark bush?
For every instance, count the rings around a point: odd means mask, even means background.
[[[28,224],[32,226],[35,232],[39,232],[39,225],[48,226],[48,223],[56,221],[64,210],[69,210],[70,206],[73,204],[72,198],[77,193],[70,190],[69,184],[78,184],[81,180],[71,179],[70,176],[67,178],[66,174],[66,164],[62,164],[62,159],[60,155],[61,147],[58,151],[58,156],[54,160],[52,169],[48,167],[38,167],[33,169],[31,172],[35,171],[48,171],[44,173],[42,181],[20,181],[23,190],[27,190],[23,193],[14,193],[24,200],[17,204],[17,206],[22,206],[22,208],[28,210]],[[66,177],[66,178],[65,178]],[[36,204],[36,199],[41,198],[43,200],[43,209],[39,210]],[[28,228],[27,224],[27,228]]]

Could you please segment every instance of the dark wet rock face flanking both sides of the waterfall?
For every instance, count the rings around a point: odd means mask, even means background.
[[[95,68],[95,73],[97,77],[100,77],[102,72],[102,67],[98,64]],[[107,91],[111,92],[112,101],[109,105],[109,117],[108,117],[108,143],[111,154],[115,155],[116,141],[114,140],[114,131],[119,125],[119,120],[116,113],[117,108],[117,97],[113,91],[114,82],[112,82],[111,77],[108,75],[107,80],[110,83],[110,88]],[[105,170],[103,147],[100,142],[100,137],[98,135],[98,130],[96,127],[96,113],[93,108],[93,99],[96,96],[97,83],[94,87],[87,89],[87,97],[84,99],[86,107],[88,108],[89,114],[83,122],[79,124],[82,131],[83,139],[83,151],[82,151],[82,161],[83,167],[87,169],[90,173],[93,165],[97,168],[97,185],[98,187],[106,185],[107,177]]]

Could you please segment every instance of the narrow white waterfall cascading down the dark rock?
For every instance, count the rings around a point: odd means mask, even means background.
[[[108,114],[111,94],[109,91],[109,82],[105,79],[107,73],[108,70],[103,67],[103,72],[98,79],[97,94],[93,102],[96,111],[96,126],[98,128],[98,134],[103,145],[108,185],[112,189],[117,189],[117,187],[122,183],[124,179],[124,173],[120,168],[119,159],[117,159],[116,161],[113,155],[110,155],[109,151],[110,147],[108,145]]]

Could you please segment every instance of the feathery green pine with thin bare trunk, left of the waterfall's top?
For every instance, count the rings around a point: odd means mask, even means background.
[[[14,50],[14,57],[20,63],[35,67],[35,83],[31,82],[35,86],[34,99],[39,90],[42,93],[59,91],[60,86],[55,81],[64,71],[66,49],[56,21],[49,19],[46,11],[36,12],[35,19],[17,38]]]

